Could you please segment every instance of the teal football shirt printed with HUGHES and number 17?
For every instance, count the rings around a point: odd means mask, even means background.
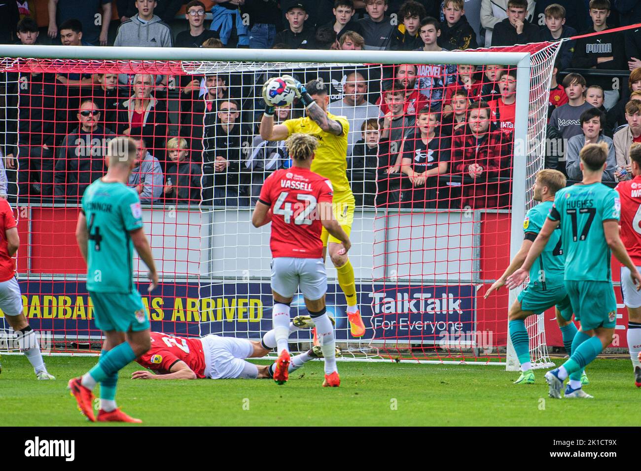
[[[619,220],[619,195],[603,183],[562,188],[548,217],[561,221],[565,281],[612,281],[603,222]]]

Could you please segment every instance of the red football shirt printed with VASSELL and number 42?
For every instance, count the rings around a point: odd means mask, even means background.
[[[260,192],[260,202],[272,211],[272,257],[322,257],[317,205],[332,198],[331,182],[312,170],[292,167],[272,173]]]

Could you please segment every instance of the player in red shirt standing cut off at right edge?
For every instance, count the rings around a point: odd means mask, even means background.
[[[635,267],[641,267],[641,143],[630,146],[632,163],[631,180],[620,181],[617,185],[621,201],[621,240],[626,246]],[[629,270],[621,267],[621,293],[628,309],[628,349],[635,370],[635,384],[641,388],[641,293],[630,279]]]

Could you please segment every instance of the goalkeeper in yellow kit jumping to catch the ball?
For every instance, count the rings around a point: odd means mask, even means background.
[[[354,220],[354,195],[347,180],[349,122],[345,117],[334,116],[327,112],[329,96],[322,80],[312,80],[307,85],[303,85],[290,76],[281,78],[285,80],[288,88],[296,92],[296,96],[307,110],[307,116],[288,119],[283,124],[274,125],[274,106],[265,96],[266,89],[263,87],[265,113],[260,121],[260,136],[264,140],[275,141],[285,140],[294,133],[304,133],[313,135],[319,140],[319,147],[312,161],[312,172],[331,181],[334,189],[334,214],[338,224],[349,236]],[[351,335],[362,337],[365,334],[365,326],[358,310],[352,264],[347,254],[338,253],[342,249],[340,240],[330,236],[325,228],[322,229],[320,238],[323,243],[323,258],[329,251],[329,258],[338,273],[338,285],[347,299],[347,318]]]

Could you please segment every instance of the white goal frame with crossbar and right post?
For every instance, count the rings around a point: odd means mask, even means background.
[[[3,45],[0,57],[16,60],[63,59],[63,60],[129,60],[183,61],[183,62],[274,62],[274,63],[439,63],[509,65],[517,70],[516,109],[513,130],[513,183],[510,223],[510,258],[519,251],[522,242],[522,220],[526,213],[526,152],[528,143],[529,90],[531,78],[531,53],[498,51],[313,51],[284,49],[210,49],[210,48],[148,48],[148,47],[79,47],[62,45]],[[558,51],[558,49],[557,49]],[[555,51],[556,54],[556,51]],[[550,71],[551,73],[551,71]],[[519,143],[517,145],[517,143]],[[510,291],[509,305],[516,299],[520,289]],[[507,316],[505,319],[507,324]],[[506,331],[508,331],[506,329]],[[506,370],[517,370],[518,359],[507,336],[505,362],[487,364],[504,365]],[[387,360],[386,360],[387,361]],[[404,361],[404,360],[403,360]],[[461,363],[460,361],[418,361],[412,363]],[[480,364],[485,364],[479,362]],[[470,362],[468,364],[473,364]],[[474,363],[476,364],[476,363]]]

